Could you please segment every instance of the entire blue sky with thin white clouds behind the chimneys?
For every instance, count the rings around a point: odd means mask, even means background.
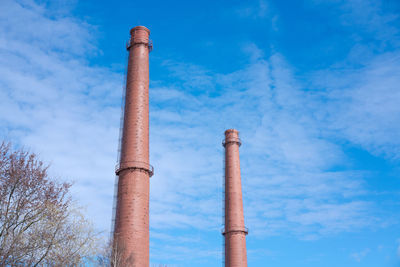
[[[151,30],[151,262],[221,266],[240,131],[249,266],[400,266],[400,2],[0,1],[0,135],[109,231],[129,29]]]

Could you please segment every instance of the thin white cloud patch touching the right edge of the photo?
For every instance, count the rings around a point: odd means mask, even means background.
[[[317,86],[327,91],[325,129],[370,153],[398,160],[400,157],[400,54],[383,53],[354,71],[318,73]]]

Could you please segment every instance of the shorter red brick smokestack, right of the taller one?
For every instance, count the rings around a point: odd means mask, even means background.
[[[239,132],[234,129],[225,131],[225,266],[245,267],[246,235],[244,226],[242,185],[240,178]]]

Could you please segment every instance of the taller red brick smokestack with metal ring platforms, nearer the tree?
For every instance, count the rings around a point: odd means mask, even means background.
[[[114,259],[121,266],[149,266],[149,52],[150,31],[134,27],[127,44],[125,110],[114,226]],[[116,265],[114,265],[116,266]]]

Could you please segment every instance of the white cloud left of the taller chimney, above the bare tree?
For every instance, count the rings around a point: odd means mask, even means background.
[[[109,228],[122,75],[90,67],[92,27],[33,1],[1,1],[1,133],[75,181],[74,194]]]

